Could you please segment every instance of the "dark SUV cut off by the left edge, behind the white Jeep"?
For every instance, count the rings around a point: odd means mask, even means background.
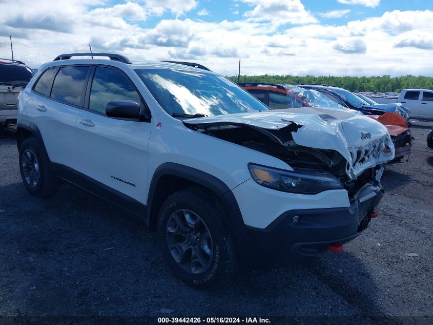
[[[33,74],[24,62],[0,59],[0,129],[16,123],[18,94]]]

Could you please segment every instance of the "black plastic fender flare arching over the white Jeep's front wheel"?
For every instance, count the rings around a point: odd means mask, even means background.
[[[230,232],[233,237],[232,239],[238,258],[242,262],[248,263],[252,257],[250,241],[236,198],[230,188],[223,181],[211,174],[205,173],[202,170],[177,163],[163,163],[158,166],[158,168],[155,170],[155,173],[153,174],[152,181],[149,186],[147,200],[148,224],[151,225],[152,222],[156,221],[150,220],[150,218],[155,215],[155,211],[152,211],[152,208],[158,208],[153,207],[152,202],[154,200],[154,194],[159,179],[166,175],[173,175],[190,180],[205,188],[208,188],[220,198],[229,222]]]

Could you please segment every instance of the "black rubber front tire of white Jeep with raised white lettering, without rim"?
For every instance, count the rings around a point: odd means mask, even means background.
[[[163,241],[162,254],[164,258],[177,278],[179,278],[183,283],[196,288],[209,288],[216,283],[229,280],[234,273],[236,265],[234,247],[232,245],[227,223],[225,222],[223,209],[216,202],[218,202],[217,198],[207,193],[205,189],[200,187],[190,187],[187,189],[182,189],[179,192],[171,195],[162,204],[158,215],[158,228]],[[173,250],[173,245],[169,247],[169,240],[172,240],[173,234],[168,230],[168,223],[170,220],[171,225],[173,224],[173,219],[171,217],[177,217],[179,211],[182,211],[180,216],[182,216],[184,213],[183,211],[190,211],[195,214],[195,217],[199,216],[199,219],[201,219],[203,222],[201,223],[200,221],[200,226],[202,227],[204,224],[206,227],[205,230],[209,231],[211,237],[212,244],[205,245],[204,248],[202,248],[202,241],[206,236],[203,236],[200,240],[197,240],[200,244],[196,245],[197,247],[195,248],[195,256],[198,256],[199,253],[201,256],[205,255],[209,263],[209,266],[207,267],[202,266],[202,264],[198,264],[198,267],[194,267],[196,271],[197,269],[201,270],[199,273],[194,274],[193,271],[191,271],[191,269],[193,269],[193,264],[195,263],[194,258],[191,258],[191,268],[188,272],[184,269],[185,263],[183,263],[182,266],[181,263],[175,260],[175,257],[170,251],[170,247],[172,247]],[[187,222],[186,225],[188,226],[190,223]],[[170,229],[173,230],[173,227],[171,226]],[[205,233],[205,230],[202,231],[202,233]],[[194,236],[193,233],[189,234],[190,237]],[[188,239],[184,238],[190,237],[182,235],[178,237],[179,242],[183,242],[184,245],[187,245],[189,244],[189,241]],[[207,239],[209,243],[209,237],[207,237]],[[184,240],[187,240],[188,242]],[[210,246],[212,246],[212,255],[205,251],[205,248],[206,250],[210,250]],[[191,249],[191,253],[187,254],[189,249]],[[187,248],[184,252],[185,253],[182,254],[182,256],[187,256],[185,260],[187,260],[186,264],[188,264],[188,256],[194,254],[194,246],[190,246],[190,248]],[[201,259],[201,261],[202,260],[204,259]]]

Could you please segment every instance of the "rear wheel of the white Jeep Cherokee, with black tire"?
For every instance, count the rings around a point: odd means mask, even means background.
[[[38,171],[37,180],[36,177],[33,177],[29,181],[31,171],[29,172],[29,167],[27,166],[31,165],[31,163],[26,165],[26,162],[31,162],[32,159],[27,159],[24,157],[25,155],[27,158],[29,158],[29,155],[30,157],[34,155],[36,159],[33,160],[36,161],[36,164],[33,165],[37,165],[37,167],[33,169],[37,169]],[[26,165],[26,167],[24,165]],[[19,171],[24,186],[32,196],[49,197],[57,192],[59,183],[56,177],[50,174],[49,166],[50,161],[48,155],[39,142],[35,138],[27,138],[24,140],[19,148]],[[26,176],[28,177],[27,179]]]

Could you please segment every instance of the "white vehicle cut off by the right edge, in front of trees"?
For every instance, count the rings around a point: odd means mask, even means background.
[[[410,118],[433,120],[433,90],[403,89],[397,103],[410,109]]]

